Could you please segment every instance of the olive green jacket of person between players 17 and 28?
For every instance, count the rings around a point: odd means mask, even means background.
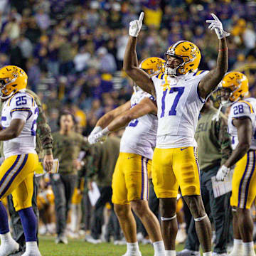
[[[201,171],[224,164],[232,153],[227,118],[220,112],[219,120],[213,120],[217,110],[212,107],[201,112],[196,127],[195,139],[198,143],[198,161]]]

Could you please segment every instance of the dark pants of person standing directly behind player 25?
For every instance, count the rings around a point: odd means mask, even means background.
[[[38,211],[38,207],[37,207],[37,204],[36,204],[37,194],[38,194],[38,178],[36,178],[34,176],[34,178],[33,178],[32,207],[33,207],[34,213],[36,214],[37,220],[39,220],[39,211]],[[16,212],[16,210],[14,208],[14,202],[12,200],[12,196],[9,195],[7,197],[7,199],[8,199],[8,210],[9,210],[9,213],[11,215],[11,224],[13,225],[13,228],[14,228],[14,239],[20,245],[20,250],[25,252],[25,250],[26,250],[26,240],[25,240],[25,235],[24,235],[24,231],[23,231],[23,228],[22,228],[22,224],[21,224],[21,218],[18,215],[18,212]],[[36,235],[38,235],[38,234],[36,233]],[[38,240],[38,238],[37,238],[37,240]]]

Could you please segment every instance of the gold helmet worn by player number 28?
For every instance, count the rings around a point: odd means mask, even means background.
[[[219,88],[223,104],[236,102],[249,95],[248,79],[246,75],[237,71],[226,73]]]

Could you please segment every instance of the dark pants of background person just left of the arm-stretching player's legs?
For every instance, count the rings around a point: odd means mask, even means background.
[[[109,225],[113,228],[114,240],[119,240],[120,238],[120,227],[117,218],[114,214],[114,206],[112,204],[112,187],[111,186],[100,186],[100,198],[95,204],[94,211],[92,212],[92,223],[91,223],[91,233],[92,238],[99,239],[102,232],[102,225],[104,224],[103,210],[106,203],[110,203],[112,206],[112,213]],[[113,221],[114,220],[114,221]],[[107,228],[107,232],[110,232],[110,226]]]

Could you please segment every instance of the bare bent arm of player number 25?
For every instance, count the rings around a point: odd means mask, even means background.
[[[21,134],[25,121],[23,119],[12,119],[11,124],[6,129],[0,131],[0,141],[14,139]]]

